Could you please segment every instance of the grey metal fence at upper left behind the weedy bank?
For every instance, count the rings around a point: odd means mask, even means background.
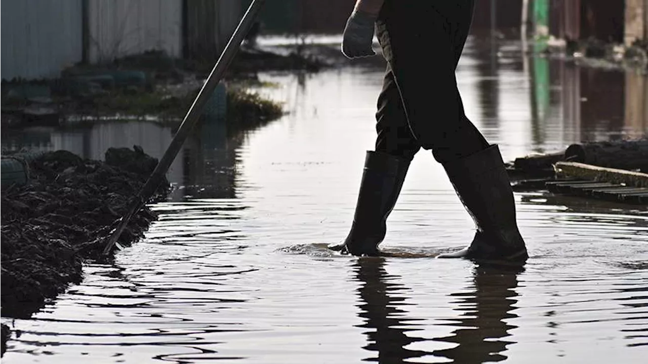
[[[150,50],[214,58],[248,2],[0,0],[0,80],[56,78],[78,62]]]

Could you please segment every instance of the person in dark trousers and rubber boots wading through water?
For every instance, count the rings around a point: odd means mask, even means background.
[[[386,220],[410,162],[432,150],[477,227],[472,242],[443,258],[524,264],[513,190],[497,145],[465,114],[455,70],[467,40],[474,0],[358,0],[343,34],[349,58],[374,54],[374,28],[388,61],[376,113],[376,150],[365,157],[351,231],[330,249],[380,255]]]

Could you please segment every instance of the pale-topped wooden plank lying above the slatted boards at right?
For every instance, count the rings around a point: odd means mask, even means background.
[[[648,187],[648,174],[616,168],[586,165],[577,162],[558,162],[554,165],[557,177],[578,177],[597,182],[625,184],[634,187]]]

